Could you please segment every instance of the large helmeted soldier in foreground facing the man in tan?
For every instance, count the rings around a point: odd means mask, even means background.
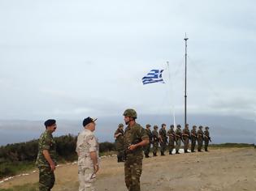
[[[125,185],[129,191],[140,191],[142,172],[142,147],[150,143],[145,129],[136,123],[137,112],[128,108],[124,111],[124,121],[128,125],[124,131],[124,146],[126,159],[124,162]]]

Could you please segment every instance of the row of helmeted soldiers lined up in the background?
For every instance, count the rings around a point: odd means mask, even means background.
[[[176,154],[180,154],[181,142],[184,143],[184,153],[189,153],[189,142],[191,141],[191,152],[195,152],[196,142],[197,151],[202,152],[202,145],[205,142],[205,151],[208,151],[208,144],[210,140],[209,127],[205,127],[205,131],[202,130],[200,125],[197,130],[197,126],[193,125],[193,129],[189,130],[189,124],[186,124],[184,129],[181,130],[181,125],[177,125],[174,130],[174,125],[170,125],[170,129],[166,130],[166,124],[161,125],[161,129],[158,132],[158,125],[154,125],[154,130],[151,132],[150,124],[145,125],[145,131],[150,138],[150,144],[144,146],[145,158],[150,157],[150,147],[153,145],[153,156],[157,156],[158,146],[160,144],[161,155],[169,150],[169,155],[172,155],[172,151],[176,150]],[[119,124],[118,129],[115,131],[115,146],[118,151],[118,162],[124,162],[124,125]]]

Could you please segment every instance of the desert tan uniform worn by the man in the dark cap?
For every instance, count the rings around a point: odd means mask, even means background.
[[[79,191],[95,190],[96,175],[94,173],[93,160],[89,155],[93,151],[98,154],[98,140],[92,131],[84,129],[78,135],[76,142]]]

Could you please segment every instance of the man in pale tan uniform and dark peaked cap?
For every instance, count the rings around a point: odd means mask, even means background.
[[[93,191],[98,172],[98,140],[94,136],[95,122],[97,119],[91,117],[83,121],[84,129],[80,132],[76,142],[76,153],[78,155],[78,180],[79,191]]]

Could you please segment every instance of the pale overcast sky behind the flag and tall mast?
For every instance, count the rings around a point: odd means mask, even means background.
[[[183,113],[186,32],[188,115],[255,120],[255,6],[0,0],[0,119]],[[143,86],[152,69],[166,83]]]

